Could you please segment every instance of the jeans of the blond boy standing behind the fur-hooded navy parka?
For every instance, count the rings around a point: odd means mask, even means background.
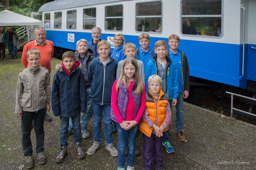
[[[86,89],[86,112],[82,113],[81,128],[86,127],[89,124],[92,116],[92,98],[91,98],[91,87]],[[73,128],[72,118],[69,118],[69,126]]]

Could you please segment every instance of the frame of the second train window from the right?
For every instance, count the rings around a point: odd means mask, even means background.
[[[136,2],[135,3],[135,24],[134,24],[134,30],[135,30],[135,32],[137,32],[137,33],[140,33],[140,34],[142,34],[142,33],[147,33],[147,34],[162,34],[163,33],[163,29],[164,29],[164,23],[163,23],[163,13],[164,13],[164,9],[163,9],[163,1],[162,0],[159,0],[160,2],[161,2],[161,4],[162,4],[162,15],[149,15],[149,16],[137,16],[137,10],[136,10],[136,6],[137,6],[137,4],[138,3],[147,3],[147,2],[155,2],[155,1],[142,1],[142,2]],[[137,21],[136,21],[136,19],[137,18],[159,18],[159,17],[161,17],[161,24],[162,24],[162,29],[161,29],[161,32],[146,32],[146,31],[137,31],[136,30],[136,26],[137,26]]]

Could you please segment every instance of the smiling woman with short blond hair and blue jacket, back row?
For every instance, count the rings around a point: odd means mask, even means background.
[[[124,49],[123,49],[124,42],[125,42],[125,39],[122,33],[118,33],[114,36],[114,45],[116,47],[112,52],[112,57],[116,59],[117,62],[120,62],[121,60],[126,59],[126,56],[124,55]]]

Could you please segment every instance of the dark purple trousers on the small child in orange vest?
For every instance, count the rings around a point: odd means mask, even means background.
[[[152,160],[154,158],[154,167],[156,170],[163,169],[162,143],[164,136],[157,138],[155,134],[147,137],[143,134],[143,165],[145,170],[152,170]]]

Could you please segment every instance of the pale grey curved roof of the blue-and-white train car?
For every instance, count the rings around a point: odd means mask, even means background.
[[[55,0],[42,5],[38,12],[64,10],[69,8],[76,8],[81,6],[98,5],[105,3],[121,2],[128,0]]]

